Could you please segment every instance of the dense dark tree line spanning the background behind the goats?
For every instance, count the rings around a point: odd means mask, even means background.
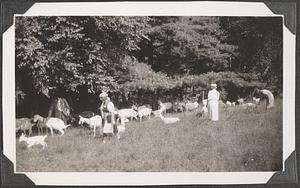
[[[140,95],[182,99],[211,82],[224,100],[255,87],[280,94],[281,19],[16,17],[17,105],[29,113],[61,96],[79,111],[96,108],[101,91],[121,106]]]

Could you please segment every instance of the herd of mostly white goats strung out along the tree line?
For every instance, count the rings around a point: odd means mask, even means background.
[[[152,116],[158,117],[162,120],[164,124],[174,124],[179,122],[180,119],[178,117],[165,117],[166,113],[169,112],[188,112],[188,111],[197,111],[201,116],[206,116],[208,113],[207,109],[207,99],[202,100],[201,105],[197,102],[176,102],[176,103],[162,103],[158,101],[159,109],[153,111],[149,105],[135,106],[133,105],[131,108],[125,109],[116,109],[114,114],[116,115],[116,124],[117,124],[117,138],[120,138],[120,134],[125,132],[125,124],[129,122],[129,120],[139,120],[140,122],[143,119],[150,119]],[[260,98],[253,97],[251,102],[245,102],[244,99],[238,99],[236,102],[226,101],[224,103],[220,100],[220,106],[225,108],[234,107],[236,105],[242,106],[244,109],[253,109],[260,103]],[[88,125],[90,129],[93,130],[93,136],[96,136],[96,130],[99,129],[100,135],[103,134],[103,126],[107,123],[103,123],[103,119],[100,115],[92,114],[91,117],[83,117],[82,115],[78,115],[76,123],[80,126]],[[60,133],[61,136],[64,135],[67,127],[71,126],[71,124],[66,125],[65,122],[56,117],[47,117],[43,118],[40,115],[34,115],[33,118],[19,118],[16,119],[16,133],[21,132],[21,136],[19,141],[25,141],[27,143],[27,147],[30,148],[33,145],[42,145],[43,149],[47,146],[45,139],[46,135],[42,136],[31,136],[32,128],[36,127],[39,134],[44,134],[44,131],[48,129],[51,132],[51,135],[54,135],[54,131]],[[48,132],[48,131],[47,131]]]

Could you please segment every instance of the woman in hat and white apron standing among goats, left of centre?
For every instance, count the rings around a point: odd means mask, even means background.
[[[115,106],[114,103],[110,101],[108,94],[102,92],[99,95],[100,100],[102,101],[100,106],[100,113],[103,118],[103,137],[107,137],[108,135],[113,135],[115,133]],[[105,142],[105,140],[103,140]]]

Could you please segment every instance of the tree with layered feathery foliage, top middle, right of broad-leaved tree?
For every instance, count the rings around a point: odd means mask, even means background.
[[[169,75],[228,70],[237,55],[218,17],[152,17],[148,38],[139,60]]]

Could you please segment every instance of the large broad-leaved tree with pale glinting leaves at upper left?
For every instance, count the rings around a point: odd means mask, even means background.
[[[48,98],[114,91],[146,27],[144,17],[16,17],[17,79]]]

